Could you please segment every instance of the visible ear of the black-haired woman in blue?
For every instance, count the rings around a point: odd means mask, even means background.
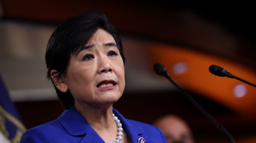
[[[51,70],[51,77],[52,81],[55,84],[55,86],[62,92],[67,92],[68,91],[68,85],[65,79],[65,76],[62,75],[60,78],[56,77],[60,72],[57,70],[53,69]]]

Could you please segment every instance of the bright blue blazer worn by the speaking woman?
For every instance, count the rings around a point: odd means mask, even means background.
[[[163,133],[155,126],[124,118],[116,109],[132,143],[143,137],[146,143],[166,143]],[[113,139],[114,141],[114,139]],[[65,110],[56,120],[27,130],[20,143],[105,143],[90,124],[74,108]]]

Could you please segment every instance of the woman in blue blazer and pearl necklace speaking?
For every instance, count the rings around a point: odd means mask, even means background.
[[[127,120],[112,107],[124,91],[125,58],[104,14],[65,20],[50,37],[45,60],[65,111],[26,131],[21,143],[166,143],[158,128]]]

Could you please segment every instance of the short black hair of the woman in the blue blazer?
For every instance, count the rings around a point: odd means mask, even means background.
[[[60,78],[61,75],[65,74],[71,54],[86,44],[99,28],[113,36],[123,62],[125,62],[121,39],[107,17],[98,11],[84,12],[65,20],[52,33],[45,53],[49,80],[52,80],[51,70],[53,69],[59,72],[54,78]],[[70,105],[74,106],[74,98],[71,92],[68,90],[64,93],[54,83],[53,85],[64,109],[68,109]]]

